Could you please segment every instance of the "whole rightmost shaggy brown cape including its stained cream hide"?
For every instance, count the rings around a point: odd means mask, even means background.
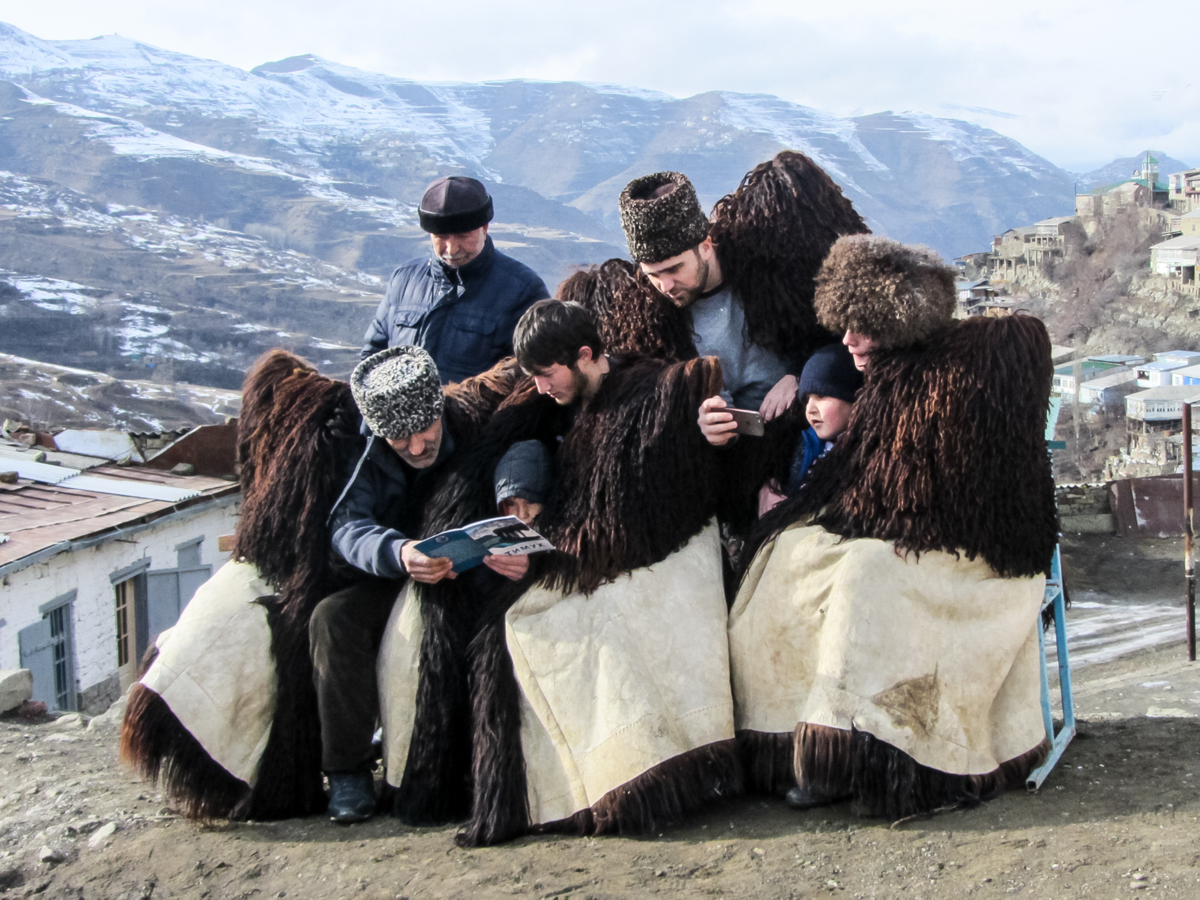
[[[799,780],[852,796],[862,812],[899,818],[980,799],[1019,784],[1037,764],[1044,734],[1028,647],[1032,640],[1036,648],[1038,586],[1057,540],[1044,438],[1050,377],[1049,337],[1028,317],[954,323],[923,343],[872,355],[846,432],[814,464],[799,496],[760,523],[757,556],[731,613],[739,738],[754,787],[784,791]],[[878,556],[870,545],[889,552]],[[869,559],[874,581],[856,581],[856,566]],[[797,577],[770,574],[790,566],[799,566]],[[822,581],[814,566],[828,577]],[[956,599],[946,594],[948,586]],[[901,608],[907,618],[893,616]],[[872,610],[899,631],[880,644],[884,656],[864,659],[859,654],[875,646],[871,628],[880,624],[870,620]],[[958,630],[946,626],[949,619]],[[770,629],[772,620],[788,628]],[[942,641],[914,664],[942,659],[942,670],[906,671],[906,628],[920,631],[913,636],[918,644],[923,637]],[[976,708],[953,726],[972,733],[970,740],[954,738],[966,749],[953,762],[953,754],[930,754],[922,742],[944,740],[953,731],[948,714],[941,730],[934,725],[946,713],[938,697],[954,695],[938,679],[956,673],[971,680],[966,654],[988,628],[1004,629],[986,637],[1007,655],[991,660],[989,674],[964,694],[967,700],[959,697]],[[770,634],[763,646],[758,638]],[[793,660],[793,673],[803,672],[796,676],[803,688],[768,686],[758,670],[776,653]],[[857,667],[904,673],[898,678],[910,688],[929,688],[923,724],[895,725],[888,715],[899,694],[887,694],[888,685],[875,685]],[[826,676],[856,682],[857,700],[827,691]],[[984,684],[986,678],[992,680]],[[990,721],[986,704],[995,700],[1008,706],[992,710],[998,719]],[[779,731],[780,703],[792,709],[794,734]],[[767,714],[768,707],[774,712]]]

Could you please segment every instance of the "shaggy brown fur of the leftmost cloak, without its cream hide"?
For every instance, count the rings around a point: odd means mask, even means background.
[[[511,361],[446,388],[446,426],[463,444],[511,390]],[[246,376],[239,422],[242,486],[234,558],[275,589],[260,602],[271,631],[277,703],[253,787],[217,764],[154,691],[134,685],[121,758],[162,784],[191,818],[286,818],[325,809],[320,728],[308,655],[308,619],[322,599],[364,577],[334,553],[329,512],[365,440],[344,382],[286,350]]]

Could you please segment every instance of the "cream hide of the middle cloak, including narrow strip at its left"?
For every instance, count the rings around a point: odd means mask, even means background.
[[[733,738],[720,560],[709,524],[590,595],[533,588],[508,611],[530,822],[568,818],[667,760]],[[416,607],[406,590],[379,652],[391,784],[416,707]]]

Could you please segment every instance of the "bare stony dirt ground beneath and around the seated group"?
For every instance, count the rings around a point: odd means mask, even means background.
[[[1076,539],[1068,584],[1172,602],[1176,550]],[[4,720],[0,888],[114,900],[1200,898],[1200,666],[1187,661],[1182,610],[1178,623],[1178,640],[1076,671],[1079,734],[1038,793],[896,824],[846,804],[793,812],[743,798],[656,835],[468,851],[452,828],[391,818],[204,827],[120,768],[115,715]]]

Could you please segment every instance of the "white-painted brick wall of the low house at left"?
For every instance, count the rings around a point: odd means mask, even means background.
[[[6,575],[0,590],[0,668],[19,667],[17,634],[42,618],[38,607],[74,590],[72,630],[79,706],[83,712],[106,707],[119,694],[116,601],[110,576],[145,559],[150,569],[173,569],[175,546],[196,538],[204,539],[200,562],[211,563],[216,571],[229,558],[217,552],[217,536],[233,533],[240,499],[222,498],[192,516],[114,535],[94,547],[62,552]]]

